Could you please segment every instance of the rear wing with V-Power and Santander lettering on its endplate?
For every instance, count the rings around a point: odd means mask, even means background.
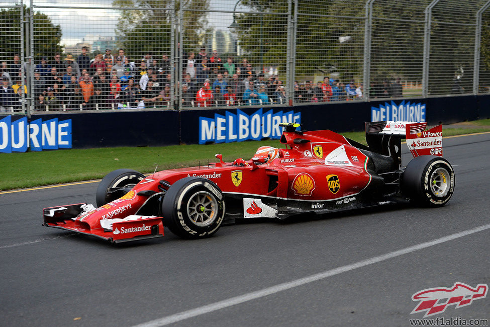
[[[389,155],[402,164],[402,139],[415,157],[425,154],[442,156],[442,125],[427,131],[427,123],[378,121],[366,122],[366,142],[371,151]]]

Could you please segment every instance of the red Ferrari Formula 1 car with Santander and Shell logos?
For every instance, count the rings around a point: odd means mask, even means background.
[[[114,242],[163,236],[213,235],[224,221],[284,219],[395,201],[442,206],[454,192],[454,170],[442,158],[442,126],[366,123],[368,146],[330,130],[297,131],[281,124],[284,149],[260,147],[251,160],[172,169],[145,177],[129,169],[108,174],[96,205],[45,208],[44,225]],[[401,139],[414,155],[402,167]],[[437,154],[437,155],[432,155]]]

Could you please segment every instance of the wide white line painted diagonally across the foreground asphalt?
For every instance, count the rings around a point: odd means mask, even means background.
[[[255,291],[255,292],[239,295],[239,296],[232,297],[232,298],[229,298],[229,299],[226,299],[223,301],[204,305],[204,306],[201,306],[201,307],[198,307],[195,309],[182,311],[182,312],[175,313],[172,315],[168,315],[168,316],[165,316],[165,317],[162,317],[159,319],[144,322],[144,323],[138,324],[134,327],[164,326],[164,325],[167,325],[170,323],[174,323],[174,322],[178,322],[178,321],[181,321],[184,319],[192,318],[192,317],[195,317],[195,316],[198,316],[201,314],[206,314],[206,313],[210,313],[210,312],[213,312],[216,310],[227,308],[227,307],[230,307],[230,306],[235,305],[235,304],[240,304],[243,302],[251,301],[251,300],[258,299],[258,298],[261,298],[261,297],[264,297],[264,296],[267,296],[270,294],[278,293],[278,292],[288,290],[288,289],[291,289],[294,287],[298,287],[298,286],[305,285],[308,283],[312,283],[312,282],[315,282],[318,280],[322,280],[322,279],[325,279],[325,278],[328,278],[331,276],[335,276],[335,275],[338,275],[341,273],[345,273],[345,272],[348,272],[348,271],[351,271],[351,270],[354,270],[357,268],[362,268],[362,267],[372,265],[372,264],[375,264],[375,263],[378,263],[378,262],[381,262],[384,260],[403,256],[403,255],[409,254],[409,253],[417,251],[417,250],[429,248],[429,247],[435,246],[436,244],[447,242],[447,241],[450,241],[450,240],[453,240],[453,239],[456,239],[459,237],[463,237],[466,235],[470,235],[470,234],[473,234],[473,233],[476,233],[478,231],[482,231],[482,230],[485,230],[488,228],[490,228],[490,224],[482,225],[482,226],[479,226],[479,227],[476,227],[473,229],[461,231],[459,233],[455,233],[452,235],[437,238],[437,239],[434,239],[434,240],[431,240],[428,242],[419,243],[413,247],[405,248],[405,249],[398,250],[395,252],[390,252],[390,253],[387,253],[387,254],[384,254],[384,255],[381,255],[378,257],[373,257],[370,259],[362,260],[362,261],[359,261],[359,262],[356,262],[356,263],[353,263],[353,264],[350,264],[347,266],[342,266],[342,267],[335,268],[332,270],[327,270],[327,271],[324,271],[322,273],[311,275],[311,276],[308,276],[305,278],[300,278],[300,279],[293,280],[293,281],[290,281],[287,283],[274,285],[274,286],[267,287],[267,288],[264,288],[264,289],[261,289],[261,290]]]

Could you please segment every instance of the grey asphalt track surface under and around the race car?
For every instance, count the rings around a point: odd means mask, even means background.
[[[256,220],[203,240],[114,246],[41,226],[43,207],[94,203],[97,183],[0,193],[0,324],[410,325],[414,293],[490,285],[490,134],[445,138],[444,156],[456,189],[442,208]],[[490,319],[490,294],[436,317]]]

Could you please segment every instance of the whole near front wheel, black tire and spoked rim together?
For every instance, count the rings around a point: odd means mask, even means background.
[[[210,180],[186,177],[166,192],[161,210],[163,225],[182,238],[204,238],[216,233],[225,216],[219,187]]]

